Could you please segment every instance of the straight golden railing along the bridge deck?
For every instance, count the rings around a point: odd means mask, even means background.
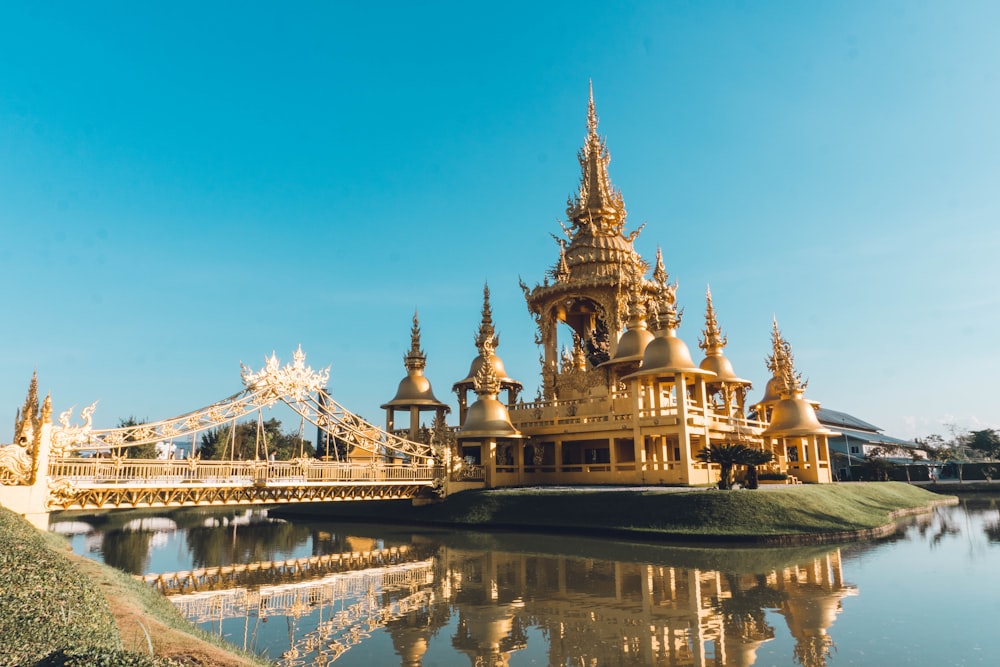
[[[389,463],[202,461],[189,459],[64,458],[49,463],[49,477],[78,484],[282,484],[430,481],[437,469]]]

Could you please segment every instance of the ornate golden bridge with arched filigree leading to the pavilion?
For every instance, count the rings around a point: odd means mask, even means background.
[[[15,442],[0,447],[0,505],[46,523],[58,510],[384,500],[430,495],[440,488],[442,457],[429,443],[403,438],[346,410],[326,391],[329,368],[313,371],[299,348],[282,366],[275,355],[258,371],[244,366],[244,388],[221,401],[158,422],[95,429],[96,403],[73,408],[53,424],[51,400],[39,402],[33,379],[15,425]],[[284,404],[341,443],[343,460],[300,457],[255,460],[135,459],[127,449],[172,443]],[[225,445],[225,443],[223,443]]]

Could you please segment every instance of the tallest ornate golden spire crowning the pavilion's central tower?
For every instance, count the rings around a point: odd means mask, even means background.
[[[621,192],[611,185],[608,147],[597,134],[597,110],[594,106],[594,85],[590,84],[587,106],[587,139],[577,154],[582,176],[580,189],[566,204],[566,216],[576,231],[594,236],[620,236],[625,226],[625,202]]]

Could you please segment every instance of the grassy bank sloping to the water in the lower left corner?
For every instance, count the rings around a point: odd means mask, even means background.
[[[236,655],[149,586],[0,508],[0,665],[192,664],[267,663]]]

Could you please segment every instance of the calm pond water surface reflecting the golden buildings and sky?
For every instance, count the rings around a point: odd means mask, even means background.
[[[1000,498],[796,549],[64,514],[73,549],[278,665],[996,665]]]

